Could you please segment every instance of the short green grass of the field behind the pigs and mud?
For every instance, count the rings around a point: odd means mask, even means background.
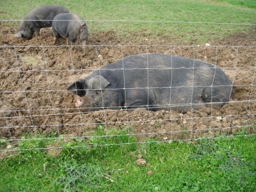
[[[256,6],[256,1],[250,7]],[[122,43],[171,38],[169,43],[207,42],[240,31],[251,31],[256,10],[216,1],[1,1],[2,19],[22,19],[31,9],[43,4],[59,3],[87,21],[89,33],[113,29]],[[29,4],[29,6],[27,6]],[[247,3],[249,4],[249,3]],[[153,21],[153,22],[145,22]],[[199,23],[175,23],[199,22]],[[202,24],[202,23],[204,24]],[[208,23],[208,24],[206,24]],[[239,23],[239,24],[210,24]],[[19,22],[16,23],[18,28]],[[141,35],[140,35],[141,36]]]

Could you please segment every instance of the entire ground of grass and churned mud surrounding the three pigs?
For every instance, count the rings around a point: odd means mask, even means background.
[[[236,2],[1,1],[0,191],[256,191],[256,2]],[[86,21],[87,55],[53,46],[50,28],[13,38],[24,14],[54,3]],[[147,52],[216,64],[230,104],[150,118],[74,109],[74,77]]]

